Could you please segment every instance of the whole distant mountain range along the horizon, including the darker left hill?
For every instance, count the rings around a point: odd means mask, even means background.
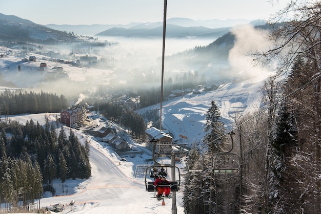
[[[192,20],[170,18],[167,21],[167,37],[213,37],[217,38],[230,31],[235,25],[262,25],[263,20],[247,19]],[[162,37],[163,23],[130,23],[128,25],[37,25],[30,20],[0,13],[0,40],[15,42],[75,41],[75,35],[121,36],[121,37]]]

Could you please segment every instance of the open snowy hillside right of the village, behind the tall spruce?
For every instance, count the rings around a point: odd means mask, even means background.
[[[268,75],[267,75],[268,76]],[[266,76],[266,77],[267,77]],[[235,114],[251,113],[260,108],[260,87],[265,80],[264,76],[246,80],[244,82],[226,83],[219,86],[218,90],[202,92],[200,94],[189,93],[184,97],[176,97],[163,102],[162,127],[174,136],[177,143],[200,142],[204,136],[205,116],[214,100],[218,106],[227,131],[233,128]],[[160,105],[149,106],[139,110],[143,113],[150,109],[159,109]],[[179,135],[186,136],[180,138]]]

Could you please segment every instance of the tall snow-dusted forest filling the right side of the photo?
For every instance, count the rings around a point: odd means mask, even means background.
[[[235,114],[230,136],[212,101],[203,143],[189,153],[186,213],[321,212],[321,5],[291,1],[278,15],[293,20],[275,24],[274,46],[255,54],[259,62],[280,62],[261,88],[266,109]],[[238,159],[227,154],[217,159],[232,140]],[[239,173],[214,173],[236,160]]]

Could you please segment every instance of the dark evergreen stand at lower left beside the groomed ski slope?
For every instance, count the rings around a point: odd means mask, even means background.
[[[0,199],[13,207],[28,206],[52,191],[52,180],[88,179],[91,176],[88,142],[83,145],[71,131],[46,118],[40,125],[33,120],[26,125],[0,123]],[[23,202],[23,203],[21,203]]]

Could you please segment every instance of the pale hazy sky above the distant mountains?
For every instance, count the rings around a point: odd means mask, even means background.
[[[167,18],[267,19],[289,1],[279,0],[282,3],[274,6],[268,2],[271,0],[168,0]],[[163,8],[163,0],[0,0],[0,13],[41,25],[163,22]]]

